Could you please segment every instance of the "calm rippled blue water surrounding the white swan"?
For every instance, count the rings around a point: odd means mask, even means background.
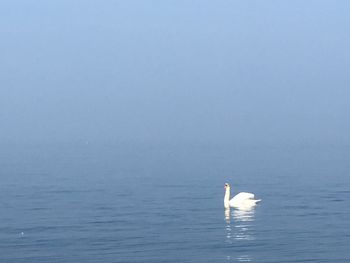
[[[345,146],[1,145],[0,178],[5,263],[350,262]]]

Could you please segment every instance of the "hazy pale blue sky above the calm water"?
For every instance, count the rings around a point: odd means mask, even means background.
[[[0,142],[350,142],[350,1],[0,1]]]

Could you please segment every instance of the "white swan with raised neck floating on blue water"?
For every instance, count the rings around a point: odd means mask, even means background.
[[[224,197],[224,206],[225,208],[238,208],[238,209],[249,209],[254,207],[261,199],[254,199],[254,194],[241,192],[235,195],[230,200],[230,191],[231,187],[228,183],[225,183],[225,197]]]

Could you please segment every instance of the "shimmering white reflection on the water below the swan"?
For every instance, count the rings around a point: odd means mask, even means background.
[[[232,220],[232,222],[231,222]],[[249,242],[255,240],[254,235],[254,220],[255,211],[254,208],[250,209],[225,209],[225,221],[226,221],[226,243],[228,244],[240,244],[237,242],[242,242],[241,245],[248,245]],[[236,262],[251,262],[252,257],[248,254],[227,256],[228,261]]]

